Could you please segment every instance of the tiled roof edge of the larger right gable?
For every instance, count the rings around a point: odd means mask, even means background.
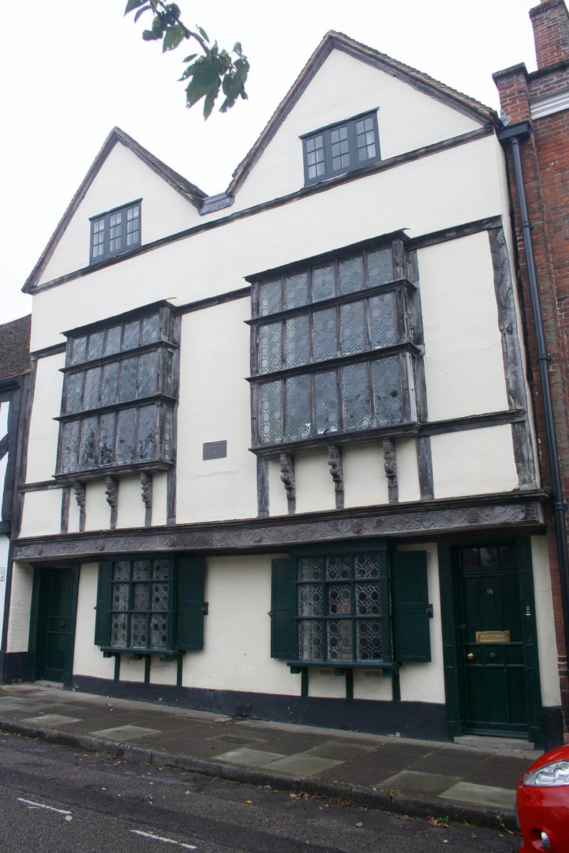
[[[330,30],[326,33],[324,38],[322,38],[322,42],[318,45],[303,70],[299,73],[299,76],[293,83],[292,88],[287,92],[287,95],[283,98],[279,106],[276,107],[275,113],[271,116],[269,123],[258,137],[253,148],[251,148],[233,172],[233,180],[229,183],[229,187],[227,189],[228,195],[235,195],[241,186],[241,183],[243,183],[247,177],[248,171],[250,171],[253,164],[258,159],[258,156],[263,152],[271,138],[275,135],[279,126],[282,124],[282,121],[286,118],[287,113],[291,111],[307,85],[311,82],[311,78],[314,77],[318,68],[322,66],[322,63],[334,49],[343,50],[345,53],[354,56],[356,59],[367,62],[369,65],[373,65],[387,74],[392,74],[393,77],[403,80],[405,83],[412,85],[415,89],[419,89],[427,95],[435,97],[439,101],[446,103],[450,107],[454,107],[462,113],[466,113],[470,118],[481,121],[484,124],[488,122],[491,122],[492,124],[497,123],[498,117],[495,111],[490,107],[485,107],[483,103],[475,101],[474,98],[467,95],[463,95],[462,92],[451,89],[450,86],[447,86],[444,83],[439,83],[438,80],[429,77],[428,74],[417,71],[416,68],[405,65],[404,62],[392,59],[391,56],[380,53],[379,50],[369,48],[366,44],[361,44],[353,38],[345,36],[343,32],[334,32],[334,30]]]

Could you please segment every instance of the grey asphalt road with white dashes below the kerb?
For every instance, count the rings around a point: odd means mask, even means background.
[[[0,853],[514,853],[518,844],[505,830],[438,826],[0,733]]]

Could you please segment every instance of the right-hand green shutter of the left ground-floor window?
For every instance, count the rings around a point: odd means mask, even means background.
[[[206,561],[203,557],[177,560],[177,648],[200,651],[204,647],[204,589]]]

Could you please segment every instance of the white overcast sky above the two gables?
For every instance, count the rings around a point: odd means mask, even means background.
[[[249,100],[206,123],[199,106],[186,110],[176,82],[184,48],[163,56],[143,43],[142,21],[123,18],[125,0],[26,0],[21,20],[13,7],[15,23],[3,21],[0,322],[31,310],[20,288],[115,125],[214,194],[328,30],[495,109],[492,72],[519,62],[535,69],[528,10],[537,0],[177,3],[188,26],[220,45],[241,41],[252,66]]]

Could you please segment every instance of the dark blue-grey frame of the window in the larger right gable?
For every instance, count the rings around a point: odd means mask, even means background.
[[[377,112],[379,107],[375,107],[373,110],[368,110],[365,113],[358,113],[355,116],[352,116],[350,119],[343,119],[342,121],[334,122],[333,125],[327,125],[325,127],[321,127],[316,131],[311,131],[310,133],[305,133],[300,136],[302,140],[302,156],[303,156],[303,164],[305,170],[305,186],[311,186],[315,183],[321,183],[322,181],[326,181],[329,178],[337,177],[339,175],[345,175],[347,172],[357,171],[357,169],[363,168],[363,166],[369,165],[370,163],[376,163],[381,159],[380,154],[380,134],[377,123]],[[358,154],[358,135],[357,135],[357,123],[361,121],[371,121],[372,127],[371,132],[374,135],[374,147],[375,153],[371,157],[366,157],[363,160],[360,160]],[[347,156],[348,162],[345,165],[339,165],[334,168],[334,148],[335,144],[338,144],[337,141],[334,140],[334,133],[336,131],[340,131],[345,128],[345,148],[343,155]],[[365,131],[369,132],[369,131]],[[322,145],[318,147],[318,150],[322,151],[322,158],[316,160],[314,158],[315,163],[322,163],[323,171],[321,173],[316,173],[314,175],[310,175],[311,168],[315,165],[311,163],[311,154],[314,152],[310,150],[311,142],[317,142],[318,137],[322,137]],[[340,154],[342,156],[342,154]]]

